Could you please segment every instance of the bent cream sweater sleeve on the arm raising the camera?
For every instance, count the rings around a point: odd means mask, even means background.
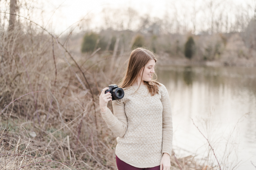
[[[124,102],[122,99],[112,101],[113,112],[108,110],[101,112],[101,115],[108,127],[118,136],[123,137],[127,129],[127,117],[124,111]]]

